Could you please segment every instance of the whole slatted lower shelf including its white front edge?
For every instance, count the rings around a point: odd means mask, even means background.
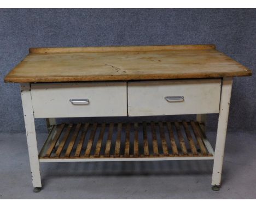
[[[58,124],[40,162],[212,160],[211,144],[196,121]]]

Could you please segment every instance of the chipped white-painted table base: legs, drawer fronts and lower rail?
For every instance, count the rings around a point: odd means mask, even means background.
[[[36,83],[21,84],[21,97],[27,133],[28,152],[34,187],[41,187],[39,162],[96,162],[96,161],[161,161],[214,160],[212,185],[220,185],[228,123],[232,78],[224,78],[220,95],[220,79],[189,79],[146,82]],[[127,89],[127,91],[126,91]],[[128,93],[128,95],[127,95]],[[196,120],[206,125],[206,113],[218,113],[219,123],[215,152],[206,138],[206,148],[212,157],[157,158],[41,158],[38,160],[35,118],[48,118],[50,125],[58,117],[97,117],[197,114]],[[184,102],[167,102],[165,96],[184,96]],[[75,106],[69,99],[90,99],[88,106]],[[33,107],[32,107],[33,105]],[[33,113],[34,112],[34,113]],[[203,126],[205,126],[203,125]],[[201,127],[203,127],[201,126]],[[203,129],[205,133],[205,129]],[[48,143],[54,137],[51,130]],[[45,149],[40,151],[44,155]]]

